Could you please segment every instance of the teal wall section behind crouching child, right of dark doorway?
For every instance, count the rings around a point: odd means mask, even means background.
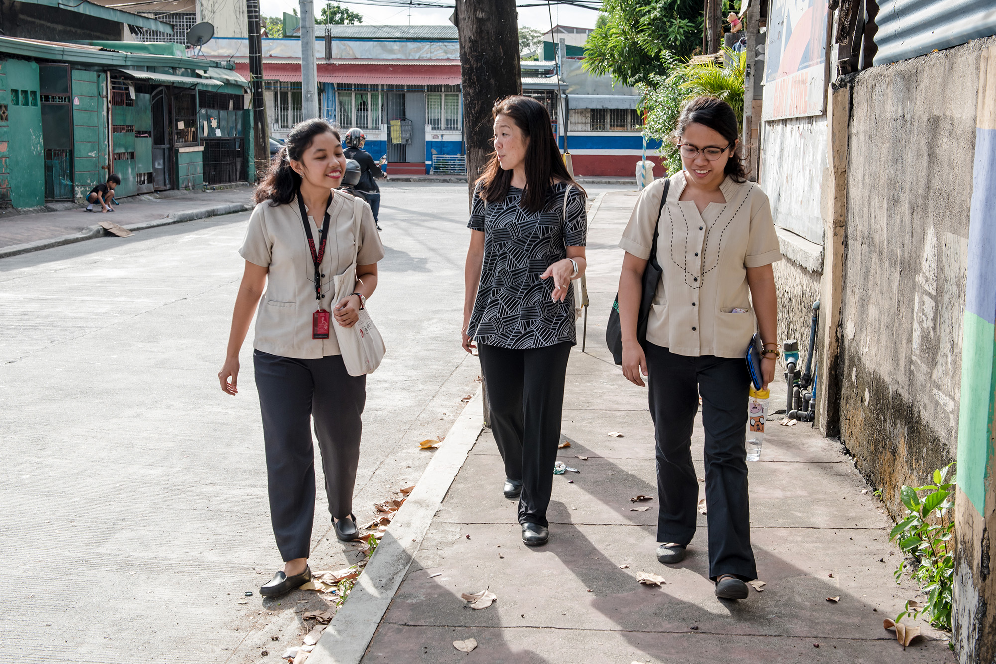
[[[106,75],[73,70],[72,76],[74,188],[77,200],[82,200],[108,179],[108,109],[101,96]]]

